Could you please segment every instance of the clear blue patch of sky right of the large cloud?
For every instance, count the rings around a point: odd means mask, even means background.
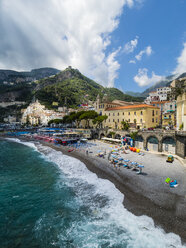
[[[149,85],[140,87],[134,76],[140,68],[148,69],[156,75],[171,75],[177,66],[177,58],[186,42],[186,1],[146,0],[139,7],[126,8],[120,18],[118,28],[113,32],[111,49],[123,46],[138,36],[138,44],[129,54],[120,53],[120,69],[115,85],[124,91],[143,91]],[[145,47],[151,46],[152,54],[143,55],[136,64],[129,63]],[[186,71],[186,64],[185,64]]]

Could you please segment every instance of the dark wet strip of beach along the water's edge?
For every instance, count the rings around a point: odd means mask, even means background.
[[[82,151],[68,152],[69,148],[58,147],[52,143],[26,138],[19,139],[27,142],[40,142],[44,146],[49,146],[61,151],[64,155],[80,160],[88,170],[99,178],[114,183],[116,188],[124,194],[123,205],[128,211],[136,216],[147,215],[151,217],[155,226],[163,228],[166,233],[171,232],[179,235],[182,243],[186,243],[186,193],[178,194],[174,192],[174,189],[171,191],[169,188],[163,192],[161,192],[162,189],[148,188],[148,185],[143,183],[142,175],[130,174],[127,169],[120,171],[110,166],[107,159],[93,157],[90,154],[86,155]]]

